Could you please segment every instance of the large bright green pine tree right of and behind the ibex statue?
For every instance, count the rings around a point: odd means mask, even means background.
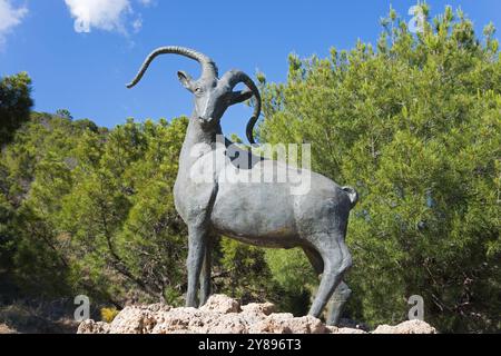
[[[261,140],[312,142],[313,169],[361,194],[348,229],[353,317],[401,322],[406,298],[419,294],[426,320],[441,330],[499,330],[501,61],[493,27],[482,42],[450,8],[426,20],[423,33],[410,33],[396,14],[383,27],[377,49],[358,42],[327,59],[292,56],[286,83],[261,76]],[[298,277],[278,278],[295,285]]]

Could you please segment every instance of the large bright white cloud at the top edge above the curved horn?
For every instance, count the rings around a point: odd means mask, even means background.
[[[90,32],[92,29],[128,33],[131,28],[138,32],[143,27],[141,16],[135,14],[130,0],[65,0],[75,18],[75,31]],[[153,0],[138,0],[150,7]]]

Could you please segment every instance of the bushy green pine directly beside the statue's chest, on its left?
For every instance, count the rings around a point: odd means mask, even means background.
[[[171,187],[185,129],[186,119],[159,125],[129,120],[105,142],[89,132],[80,141],[76,185],[61,208],[62,228],[80,256],[76,277],[85,274],[120,299],[173,303],[180,296],[184,268],[178,263],[185,258],[186,230]],[[177,296],[167,298],[169,288],[177,288]]]

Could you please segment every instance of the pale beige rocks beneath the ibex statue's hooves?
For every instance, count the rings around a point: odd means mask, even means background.
[[[311,316],[275,313],[273,304],[248,304],[214,295],[200,309],[167,305],[132,306],[121,310],[111,324],[87,320],[79,334],[367,334],[357,328],[326,326]],[[371,334],[436,334],[424,322],[382,325]]]

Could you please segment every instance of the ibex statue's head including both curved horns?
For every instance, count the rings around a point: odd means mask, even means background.
[[[193,79],[184,71],[178,71],[177,76],[181,85],[195,97],[195,115],[193,119],[200,120],[204,127],[210,128],[219,125],[219,120],[230,106],[248,100],[253,96],[256,98],[254,113],[247,125],[247,138],[250,144],[254,144],[254,125],[261,115],[259,90],[246,73],[238,70],[230,70],[219,79],[216,63],[203,53],[181,47],[159,48],[148,56],[136,78],[127,87],[132,88],[136,86],[151,61],[157,56],[166,53],[185,56],[202,65],[202,76],[198,79]],[[248,90],[235,91],[235,87],[238,83],[244,83]]]

